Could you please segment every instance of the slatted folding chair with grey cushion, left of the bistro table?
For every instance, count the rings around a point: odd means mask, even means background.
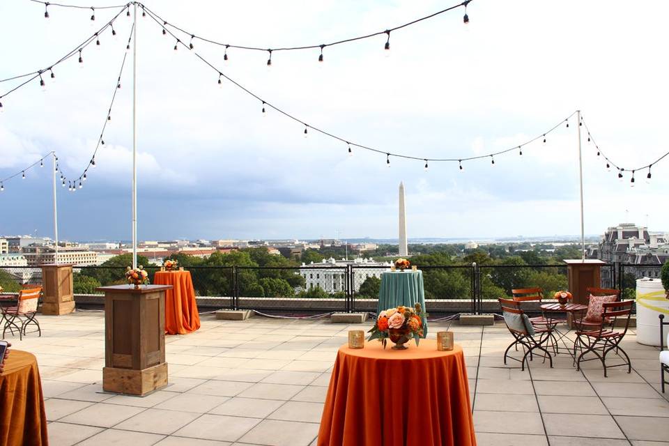
[[[533,325],[528,318],[528,315],[523,312],[520,307],[520,303],[517,300],[509,299],[498,299],[500,306],[502,307],[502,316],[504,316],[504,321],[507,324],[509,332],[511,332],[514,337],[514,341],[509,344],[506,351],[504,352],[504,363],[507,363],[507,357],[514,361],[521,362],[521,370],[525,370],[525,362],[532,360],[532,352],[535,350],[540,350],[544,352],[544,361],[546,357],[551,362],[551,367],[553,367],[553,357],[551,353],[546,350],[548,347],[548,342],[551,339],[551,332],[555,325]],[[509,356],[509,350],[512,347],[518,347],[518,345],[523,347],[525,354],[523,359],[518,360],[515,357]]]

